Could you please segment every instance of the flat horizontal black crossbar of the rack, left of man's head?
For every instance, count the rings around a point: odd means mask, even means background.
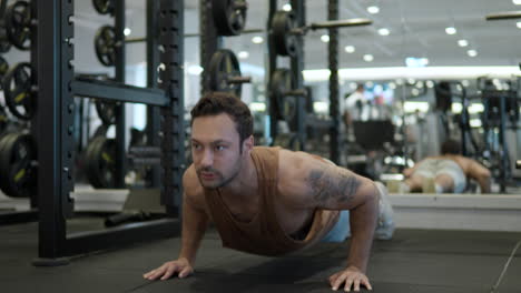
[[[139,88],[122,83],[99,80],[75,80],[70,84],[76,95],[105,99],[118,102],[144,103],[151,105],[168,105],[165,91],[159,89]],[[157,133],[157,132],[156,132]]]

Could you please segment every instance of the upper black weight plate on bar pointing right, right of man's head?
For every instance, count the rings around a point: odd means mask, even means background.
[[[271,27],[275,53],[296,57],[299,37],[291,33],[293,29],[297,28],[295,14],[288,11],[277,11],[273,16]]]

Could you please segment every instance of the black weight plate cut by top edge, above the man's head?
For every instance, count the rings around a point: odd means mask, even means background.
[[[246,24],[245,0],[214,0],[214,22],[219,36],[238,36]]]

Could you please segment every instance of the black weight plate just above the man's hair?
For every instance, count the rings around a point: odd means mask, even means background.
[[[234,52],[217,50],[210,59],[207,79],[212,91],[232,92],[240,98],[242,83],[229,82],[230,78],[240,77],[240,68]]]

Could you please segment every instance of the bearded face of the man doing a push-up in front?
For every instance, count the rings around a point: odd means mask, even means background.
[[[196,118],[191,124],[191,158],[204,188],[222,188],[235,179],[242,165],[235,122],[225,113]]]

